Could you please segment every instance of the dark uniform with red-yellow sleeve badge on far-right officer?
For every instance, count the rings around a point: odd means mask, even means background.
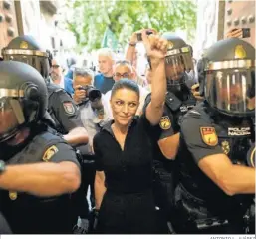
[[[250,154],[247,161],[246,154],[253,146],[254,133],[252,119],[216,117],[215,112],[206,110],[205,103],[186,115],[177,157],[181,173],[175,190],[180,233],[243,233],[243,219],[254,203],[253,196],[227,196],[198,168],[198,162],[205,156],[225,153],[233,164],[253,165],[253,156]],[[216,226],[216,231],[211,226]]]

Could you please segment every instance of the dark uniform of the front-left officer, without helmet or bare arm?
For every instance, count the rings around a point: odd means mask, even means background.
[[[74,149],[50,128],[33,128],[25,145],[13,151],[5,147],[1,159],[7,165],[71,161],[80,167]],[[8,155],[9,154],[9,155]],[[77,223],[75,194],[37,197],[24,192],[1,191],[2,211],[15,234],[71,234]]]

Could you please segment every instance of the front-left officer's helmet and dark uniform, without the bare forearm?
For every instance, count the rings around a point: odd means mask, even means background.
[[[40,73],[28,64],[3,61],[0,75],[1,163],[70,161],[80,169],[74,149],[43,122],[48,96]],[[39,197],[1,190],[0,204],[13,233],[72,233],[78,217],[77,193]]]

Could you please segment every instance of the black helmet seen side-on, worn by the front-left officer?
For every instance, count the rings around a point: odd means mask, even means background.
[[[0,62],[0,142],[43,119],[47,100],[46,84],[36,69],[17,61]]]

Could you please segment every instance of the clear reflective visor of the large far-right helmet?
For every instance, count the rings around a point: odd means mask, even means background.
[[[206,78],[205,97],[212,107],[233,116],[254,115],[253,69],[208,71]]]

